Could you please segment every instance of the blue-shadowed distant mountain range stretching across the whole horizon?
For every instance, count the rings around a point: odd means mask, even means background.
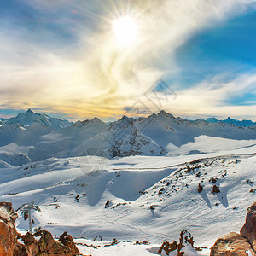
[[[230,118],[185,120],[163,110],[147,118],[124,116],[108,124],[97,118],[72,123],[28,109],[14,118],[0,119],[0,166],[51,157],[165,155],[201,135],[256,139],[256,124]]]

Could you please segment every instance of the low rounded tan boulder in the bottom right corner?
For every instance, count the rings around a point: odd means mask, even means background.
[[[248,256],[247,251],[256,256],[247,239],[236,232],[231,232],[215,241],[210,256]]]

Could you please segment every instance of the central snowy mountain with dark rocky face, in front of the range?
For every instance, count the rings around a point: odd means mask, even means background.
[[[133,125],[125,126],[123,121],[121,119],[111,125],[96,118],[79,121],[66,129],[40,137],[40,142],[31,148],[28,155],[32,160],[44,160],[51,156],[98,155],[112,158],[166,154],[166,150],[151,138]]]

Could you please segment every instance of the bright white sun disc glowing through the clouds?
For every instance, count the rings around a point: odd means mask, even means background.
[[[129,16],[123,16],[113,21],[113,32],[120,46],[129,46],[136,43],[137,24]]]

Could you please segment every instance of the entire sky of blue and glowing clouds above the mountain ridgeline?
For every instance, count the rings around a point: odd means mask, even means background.
[[[255,1],[0,5],[3,117],[32,108],[67,119],[110,120],[140,101],[154,113],[164,108],[189,118],[256,121]],[[134,22],[137,36],[120,45],[117,37],[129,31],[116,35],[113,25],[124,16]],[[160,77],[177,98],[152,104],[148,89]]]

